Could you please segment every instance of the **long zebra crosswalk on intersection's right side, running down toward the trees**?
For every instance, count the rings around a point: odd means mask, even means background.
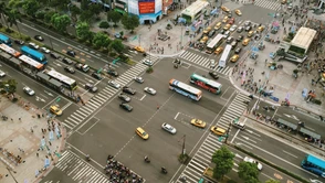
[[[243,101],[249,99],[248,96],[239,93],[217,122],[217,126],[228,129],[230,122],[237,117],[240,117],[245,110],[247,105]],[[212,154],[216,150],[220,149],[221,146],[222,142],[220,142],[220,137],[209,133],[176,182],[182,183],[180,179],[186,177],[187,183],[197,183],[202,177],[205,170],[211,164]]]

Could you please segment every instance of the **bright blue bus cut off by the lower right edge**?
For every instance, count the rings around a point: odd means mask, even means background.
[[[302,161],[302,168],[311,171],[322,177],[325,177],[325,161],[312,154],[305,157]]]

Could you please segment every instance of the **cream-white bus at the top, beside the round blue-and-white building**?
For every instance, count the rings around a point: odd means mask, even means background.
[[[208,6],[208,1],[197,0],[196,2],[193,2],[188,8],[181,11],[181,18],[186,19],[188,23],[191,23],[201,17],[203,11],[206,10],[206,7]]]

